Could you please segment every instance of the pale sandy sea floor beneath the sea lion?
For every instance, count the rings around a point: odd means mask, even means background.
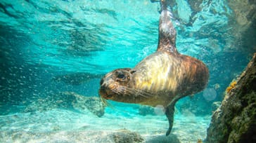
[[[210,116],[179,113],[165,136],[165,115],[141,116],[132,107],[107,107],[101,118],[91,112],[52,109],[0,116],[0,142],[114,142],[113,132],[129,130],[143,142],[198,142],[205,139]]]

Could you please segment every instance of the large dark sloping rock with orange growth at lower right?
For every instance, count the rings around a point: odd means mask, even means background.
[[[256,142],[256,53],[212,115],[207,142]]]

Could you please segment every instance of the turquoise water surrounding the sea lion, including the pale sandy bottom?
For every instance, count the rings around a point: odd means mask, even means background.
[[[98,117],[60,94],[98,97],[101,76],[153,53],[160,4],[0,0],[0,141],[113,142],[108,135],[121,129],[139,132],[145,142],[205,139],[212,103],[255,52],[255,4],[240,3],[172,5],[179,52],[205,62],[210,80],[203,92],[179,100],[174,130],[165,137],[168,123],[159,109],[144,116],[139,105],[110,101]]]

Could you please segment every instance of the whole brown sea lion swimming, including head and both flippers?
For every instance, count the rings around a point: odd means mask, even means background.
[[[105,100],[162,105],[172,130],[174,104],[200,92],[207,86],[209,71],[200,60],[181,55],[176,48],[176,30],[172,25],[169,1],[161,0],[158,49],[133,69],[115,69],[101,79],[99,95]]]

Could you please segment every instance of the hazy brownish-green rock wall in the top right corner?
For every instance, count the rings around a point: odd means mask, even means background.
[[[256,44],[256,1],[248,0],[228,0],[229,7],[233,15],[230,15],[229,27],[232,27],[231,34],[234,36],[233,46],[226,46],[229,48],[236,48],[247,54],[255,52]]]

